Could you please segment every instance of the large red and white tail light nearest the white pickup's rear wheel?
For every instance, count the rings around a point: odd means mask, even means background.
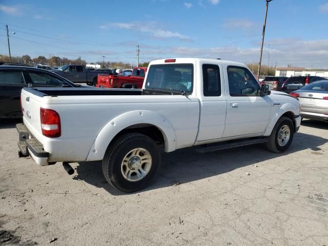
[[[52,109],[40,108],[42,134],[46,137],[60,137],[60,117]]]

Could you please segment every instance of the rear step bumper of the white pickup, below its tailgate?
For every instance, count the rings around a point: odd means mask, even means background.
[[[17,124],[16,130],[19,135],[17,142],[19,157],[30,155],[38,165],[49,165],[49,153],[44,150],[43,145],[31,134],[27,127],[23,123]]]

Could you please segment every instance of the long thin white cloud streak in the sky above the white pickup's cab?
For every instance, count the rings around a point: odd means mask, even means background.
[[[190,37],[186,35],[182,35],[179,32],[173,32],[169,30],[163,30],[156,27],[155,22],[148,22],[148,23],[110,23],[107,25],[99,26],[100,29],[107,29],[107,28],[119,28],[119,29],[128,29],[134,31],[140,31],[144,33],[150,33],[153,37],[157,38],[178,38],[181,40],[191,40]]]

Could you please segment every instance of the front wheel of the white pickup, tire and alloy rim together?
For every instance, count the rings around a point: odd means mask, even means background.
[[[294,137],[294,124],[288,117],[281,117],[272,130],[267,142],[267,149],[274,153],[287,150]]]

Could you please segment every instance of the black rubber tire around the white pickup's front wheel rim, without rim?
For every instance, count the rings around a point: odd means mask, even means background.
[[[285,145],[281,146],[278,143],[278,134],[279,134],[279,130],[284,126],[288,126],[290,129],[290,138],[289,140],[286,142]],[[294,137],[294,124],[293,121],[288,118],[288,117],[284,117],[282,116],[276,123],[275,127],[272,130],[271,135],[269,136],[268,142],[266,144],[266,147],[269,151],[274,152],[274,153],[281,153],[286,151],[292,141],[293,141],[293,137]]]

